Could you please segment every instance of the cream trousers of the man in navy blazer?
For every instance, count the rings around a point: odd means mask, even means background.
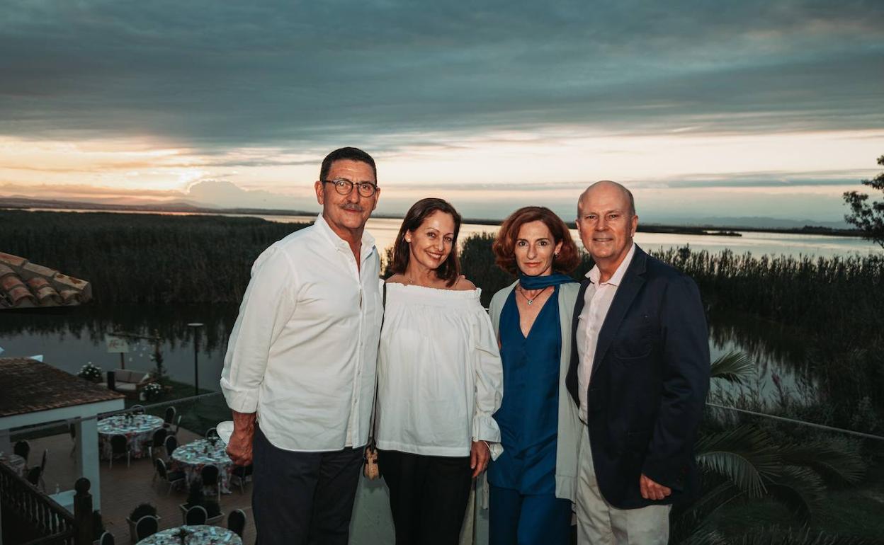
[[[617,509],[607,503],[592,466],[590,435],[586,426],[581,429],[576,495],[578,545],[666,545],[672,505]]]

